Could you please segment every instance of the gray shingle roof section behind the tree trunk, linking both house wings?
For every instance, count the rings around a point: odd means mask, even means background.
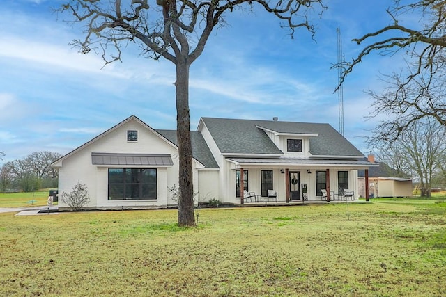
[[[174,143],[174,145],[178,145],[176,130],[157,129],[155,131],[167,138],[171,143]],[[219,168],[200,132],[190,131],[190,141],[192,142],[192,156],[194,156],[195,159],[201,162],[206,168]]]

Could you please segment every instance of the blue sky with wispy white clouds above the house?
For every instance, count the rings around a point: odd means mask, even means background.
[[[0,2],[0,151],[4,161],[37,151],[66,154],[137,115],[154,129],[176,129],[175,68],[168,61],[124,50],[123,62],[104,66],[100,56],[78,54],[68,43],[79,31],[52,13],[60,0]],[[328,122],[339,128],[337,32],[346,60],[360,47],[351,42],[391,22],[391,1],[330,0],[316,35],[289,37],[279,20],[254,10],[234,11],[215,31],[190,69],[191,129],[200,117]],[[378,118],[366,120],[380,92],[378,74],[398,71],[401,59],[370,56],[344,83],[344,136],[364,154],[364,136]]]

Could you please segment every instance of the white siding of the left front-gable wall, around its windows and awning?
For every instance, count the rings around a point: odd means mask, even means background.
[[[127,141],[127,131],[137,130],[138,141]],[[91,163],[92,152],[124,153],[124,154],[171,154],[174,166],[145,168],[157,169],[157,199],[156,200],[113,200],[108,195],[108,167],[94,166]],[[194,168],[198,166],[193,163]],[[110,166],[112,167],[112,166]],[[113,166],[114,168],[144,168],[144,166]],[[193,171],[194,188],[199,188],[198,172]],[[153,130],[141,125],[137,120],[124,122],[109,133],[88,143],[81,150],[63,159],[59,168],[59,193],[72,191],[72,186],[81,182],[86,184],[91,201],[86,207],[144,207],[166,206],[176,204],[171,200],[167,188],[178,186],[178,150],[174,145],[158,136]],[[59,207],[68,207],[59,200]]]

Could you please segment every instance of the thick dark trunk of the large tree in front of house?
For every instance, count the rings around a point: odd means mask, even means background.
[[[192,145],[190,142],[189,113],[189,65],[185,61],[176,64],[176,134],[180,170],[178,184],[178,225],[194,226],[194,188],[192,182]]]

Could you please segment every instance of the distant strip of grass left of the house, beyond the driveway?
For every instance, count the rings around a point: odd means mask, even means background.
[[[47,205],[49,189],[29,193],[0,193],[0,207],[34,207]],[[54,204],[57,204],[54,203]]]

